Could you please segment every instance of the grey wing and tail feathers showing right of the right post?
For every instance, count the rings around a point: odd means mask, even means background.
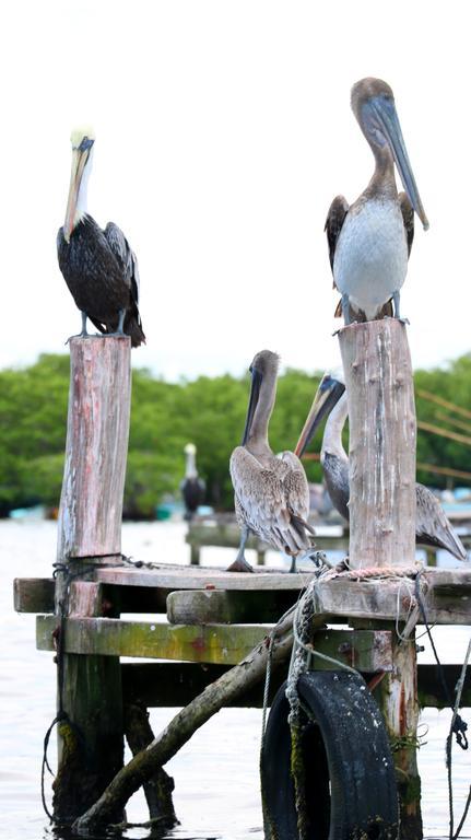
[[[458,560],[467,560],[467,552],[454,526],[448,521],[438,499],[423,485],[415,485],[415,538],[425,546],[449,551]]]

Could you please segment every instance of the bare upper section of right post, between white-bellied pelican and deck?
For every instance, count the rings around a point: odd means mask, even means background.
[[[405,326],[339,334],[350,424],[350,565],[415,561],[415,406]]]

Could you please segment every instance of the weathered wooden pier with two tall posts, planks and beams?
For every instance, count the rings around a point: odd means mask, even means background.
[[[14,584],[15,609],[38,614],[37,648],[55,652],[58,665],[58,822],[73,824],[79,833],[119,822],[143,784],[151,817],[172,825],[173,783],[163,765],[222,707],[261,707],[267,667],[272,702],[289,674],[296,603],[310,584],[307,646],[315,655],[308,667],[346,667],[366,680],[382,714],[400,806],[391,825],[382,826],[378,815],[374,826],[345,827],[335,837],[422,838],[419,713],[423,705],[446,707],[449,697],[436,666],[417,666],[414,630],[424,611],[428,625],[471,625],[471,569],[415,563],[415,412],[404,326],[392,319],[355,324],[341,330],[340,345],[350,411],[350,561],[345,570],[318,576],[314,567],[293,575],[267,567],[240,574],[125,558],[130,342],[71,340],[55,576]],[[127,614],[141,615],[128,620]],[[443,673],[452,696],[459,667]],[[469,675],[462,702],[471,704]],[[184,707],[156,738],[146,719],[152,707]],[[272,732],[269,726],[267,737]],[[127,767],[125,735],[134,755]],[[309,765],[309,750],[303,761]],[[303,773],[306,798],[318,780],[309,768]],[[363,784],[372,789],[375,780],[366,775]],[[295,790],[290,808],[298,802],[297,783]],[[341,796],[335,791],[332,783],[323,795]],[[267,840],[327,840],[328,820],[319,833],[299,815],[297,833],[289,838],[267,812],[269,798],[264,791]]]

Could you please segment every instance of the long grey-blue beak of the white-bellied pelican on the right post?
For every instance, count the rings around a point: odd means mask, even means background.
[[[388,141],[403,187],[409,196],[409,200],[419,215],[424,231],[426,231],[428,230],[428,219],[425,215],[417,185],[415,184],[395,102],[393,100],[385,98],[382,96],[374,96],[369,100],[368,104],[379,121],[381,130]]]

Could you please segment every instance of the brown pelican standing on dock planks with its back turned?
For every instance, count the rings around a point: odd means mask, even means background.
[[[257,353],[251,365],[251,389],[242,446],[231,456],[235,511],[242,529],[240,548],[229,571],[251,572],[244,557],[250,530],[292,558],[314,548],[307,532],[309,489],[301,460],[292,452],[275,457],[268,442],[268,424],[274,406],[279,357],[270,350]]]

